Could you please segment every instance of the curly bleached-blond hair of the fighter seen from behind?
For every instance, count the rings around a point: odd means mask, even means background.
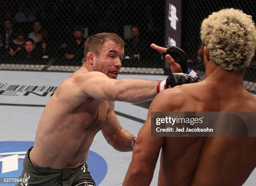
[[[223,69],[244,69],[256,48],[252,16],[233,8],[214,12],[202,22],[201,41],[209,49],[210,59]]]

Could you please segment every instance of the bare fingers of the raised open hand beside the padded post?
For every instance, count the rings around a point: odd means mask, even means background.
[[[156,44],[152,43],[151,45],[151,48],[159,51],[161,54],[165,54],[166,51],[167,51],[167,48],[164,48],[164,47],[161,47],[161,46],[157,46]],[[167,60],[167,62],[169,63],[169,65],[171,66],[171,71],[172,73],[179,73],[179,72],[182,72],[182,68],[181,66],[176,63],[174,61],[174,59],[172,58],[172,56],[170,56],[169,54],[167,54],[165,56],[165,59]]]

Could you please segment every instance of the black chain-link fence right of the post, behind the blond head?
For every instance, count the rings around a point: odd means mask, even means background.
[[[201,77],[204,77],[200,27],[202,20],[212,12],[222,8],[236,8],[253,16],[256,21],[256,3],[251,0],[183,0],[182,1],[182,49],[189,56],[189,64]],[[246,69],[244,86],[256,93],[256,56]]]

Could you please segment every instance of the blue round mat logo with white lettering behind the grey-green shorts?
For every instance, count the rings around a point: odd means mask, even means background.
[[[32,141],[0,142],[0,178],[2,178],[0,180],[4,182],[9,178],[18,178],[21,176],[26,152],[33,145],[34,142]],[[106,161],[97,153],[89,150],[86,162],[92,174],[92,178],[98,185],[106,176],[108,170]],[[31,175],[25,174],[23,178],[31,178]],[[1,183],[0,186],[6,184]],[[13,185],[15,185],[15,183],[13,183]]]

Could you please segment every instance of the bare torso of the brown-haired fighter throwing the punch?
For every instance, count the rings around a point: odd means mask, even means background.
[[[73,88],[60,85],[45,107],[30,153],[35,166],[76,168],[86,161],[93,138],[104,126],[113,102],[83,99],[67,91]]]

